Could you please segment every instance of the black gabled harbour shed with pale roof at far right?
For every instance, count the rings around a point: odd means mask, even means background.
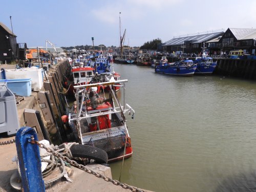
[[[255,54],[256,29],[228,28],[219,39],[207,41],[209,49],[228,53],[231,50],[243,50],[247,54]]]

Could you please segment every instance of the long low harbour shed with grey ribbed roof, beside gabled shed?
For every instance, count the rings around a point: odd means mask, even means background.
[[[176,36],[162,44],[162,51],[200,53],[204,42],[222,36],[223,34],[223,30],[215,30]],[[205,46],[207,47],[208,45],[206,44]]]

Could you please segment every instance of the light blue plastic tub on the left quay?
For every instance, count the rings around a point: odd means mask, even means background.
[[[7,88],[16,95],[31,96],[31,79],[1,79],[0,84],[3,83],[7,83]]]

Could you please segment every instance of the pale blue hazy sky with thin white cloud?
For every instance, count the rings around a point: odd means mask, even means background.
[[[139,47],[160,38],[227,28],[256,28],[255,0],[8,0],[1,1],[0,22],[28,47],[77,45]],[[121,14],[119,14],[121,12]],[[51,47],[50,45],[48,45]]]

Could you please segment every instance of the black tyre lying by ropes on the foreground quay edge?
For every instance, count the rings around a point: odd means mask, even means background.
[[[75,144],[70,147],[73,157],[94,159],[98,163],[108,163],[108,154],[96,146]]]

